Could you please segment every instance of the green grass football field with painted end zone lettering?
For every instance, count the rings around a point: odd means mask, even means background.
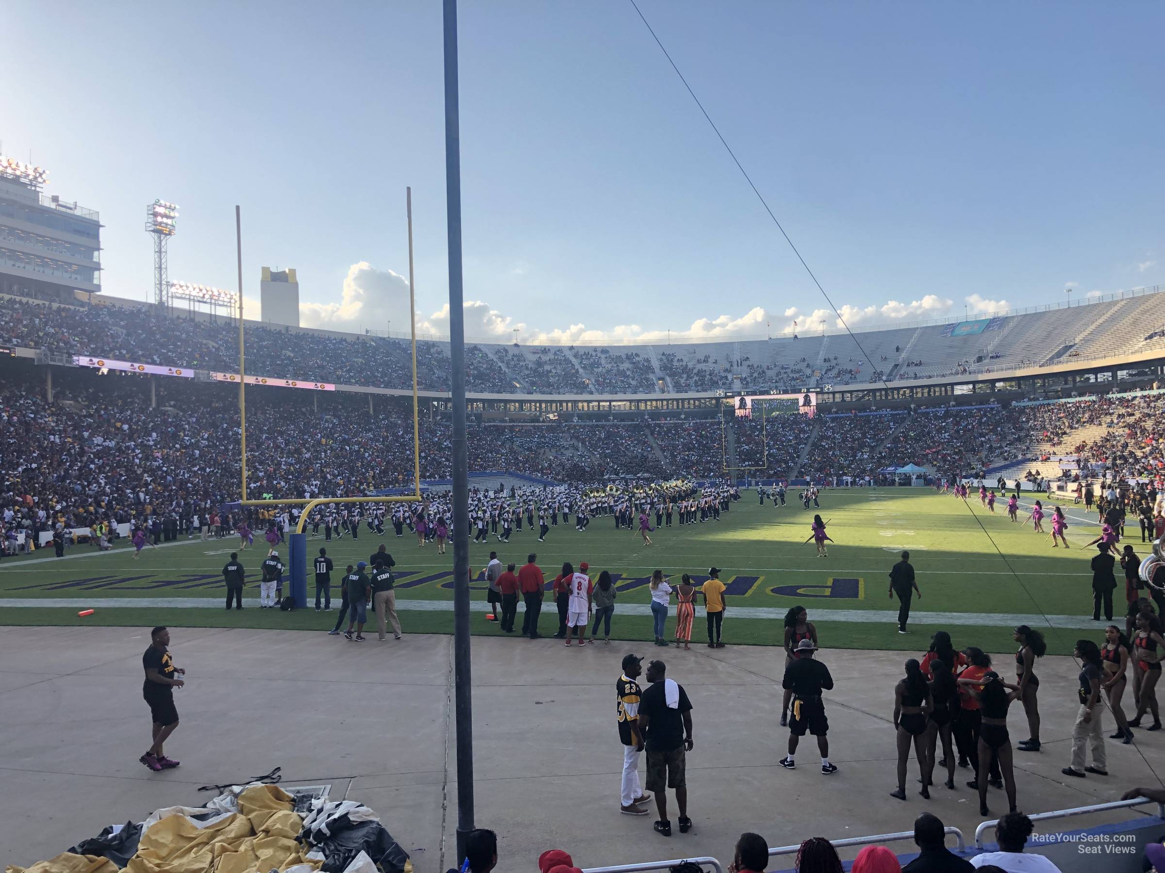
[[[1045,506],[1050,512],[1051,505],[1045,502]],[[824,646],[919,648],[925,647],[922,644],[931,632],[946,627],[958,644],[1000,652],[1012,647],[1010,629],[1015,616],[1090,616],[1088,560],[1094,552],[1080,546],[1097,531],[1095,518],[1086,517],[1082,506],[1069,503],[1065,511],[1073,548],[1053,549],[1047,535],[1035,533],[1030,521],[1024,526],[1010,523],[1002,508],[1003,503],[997,503],[996,512],[990,514],[977,499],[965,505],[930,489],[829,491],[816,511],[828,521],[835,542],[829,544],[828,558],[821,559],[812,544],[805,545],[814,510],[806,512],[799,505],[774,508],[768,502],[758,506],[755,494],[749,491],[719,521],[664,527],[652,534],[651,547],[643,546],[637,534],[616,532],[609,518],[598,518],[585,533],[559,524],[551,528],[545,542],[537,542],[536,532],[523,528],[508,545],[496,540],[471,544],[471,567],[480,574],[493,548],[503,562],[517,565],[524,562],[528,552],[536,552],[548,580],[563,561],[576,566],[587,561],[592,576],[602,569],[619,574],[612,636],[620,639],[651,638],[650,617],[631,615],[627,604],[645,609],[652,570],[659,568],[677,577],[690,573],[702,581],[714,565],[722,568],[721,579],[728,585],[725,630],[730,643],[779,644],[779,613],[799,603],[818,625]],[[1026,511],[1021,513],[1021,518],[1025,516]],[[397,562],[398,602],[428,602],[426,611],[402,609],[405,631],[451,632],[452,612],[439,602],[453,597],[452,549],[439,555],[435,545],[418,547],[408,532],[397,539],[391,530],[387,538],[365,530],[356,541],[345,538],[326,544],[337,565],[334,576],[341,575],[345,565],[367,560],[381,541]],[[1148,553],[1139,537],[1131,541],[1138,553]],[[52,558],[51,549],[5,559],[0,565],[0,598],[6,605],[0,610],[0,624],[331,627],[336,613],[318,615],[310,605],[295,612],[223,609],[221,567],[236,544],[236,538],[210,542],[183,539],[178,545],[147,548],[140,560],[133,560],[132,548],[98,554],[87,546],[72,547],[65,560]],[[309,538],[309,559],[323,545],[323,537]],[[888,598],[887,573],[903,548],[911,552],[923,592],[922,599],[913,603],[915,612],[946,613],[933,623],[912,620],[909,638],[896,633],[892,620],[861,622],[855,620],[861,616],[852,615],[855,610],[897,610],[897,601]],[[287,547],[280,551],[287,561]],[[248,576],[256,583],[248,583],[245,597],[257,597],[259,563],[264,553],[257,540],[254,548],[241,553]],[[474,602],[482,602],[485,583],[476,581],[471,587]],[[338,591],[334,583],[333,590]],[[1120,590],[1116,595],[1120,615],[1123,598]],[[9,598],[20,598],[21,605],[10,605]],[[93,616],[78,617],[87,598],[116,598],[116,605],[103,605]],[[169,598],[202,598],[206,605],[167,605]],[[553,604],[548,601],[542,618],[544,633],[555,630],[557,613],[551,613]],[[697,616],[693,641],[704,641],[701,615],[702,610]],[[995,616],[997,622],[991,620]],[[499,631],[482,613],[474,612],[473,632]],[[1058,653],[1069,653],[1074,640],[1082,636],[1071,627],[1045,629],[1045,633],[1050,651]],[[1099,637],[1099,629],[1092,636]]]

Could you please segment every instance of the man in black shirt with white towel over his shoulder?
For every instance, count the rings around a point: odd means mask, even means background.
[[[651,661],[647,680],[651,686],[640,696],[638,723],[647,740],[647,789],[656,796],[659,819],[657,833],[671,836],[668,819],[668,792],[676,792],[679,807],[679,832],[687,833],[692,819],[687,817],[687,778],[685,752],[692,751],[692,703],[678,682],[664,676],[666,665]]]

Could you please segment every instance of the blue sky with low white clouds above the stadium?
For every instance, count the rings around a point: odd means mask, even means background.
[[[640,8],[850,327],[1165,283],[1165,6]],[[107,294],[296,268],[306,326],[449,331],[442,8],[5,3],[0,154],[98,210]],[[465,333],[839,326],[629,0],[461,2]],[[1072,293],[1065,293],[1071,289]],[[796,322],[796,325],[795,325]]]

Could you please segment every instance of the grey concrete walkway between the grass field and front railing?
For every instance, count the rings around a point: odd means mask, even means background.
[[[108,824],[137,822],[165,805],[203,804],[212,794],[199,786],[281,766],[284,785],[331,785],[332,799],[372,807],[412,854],[417,873],[452,866],[458,772],[451,637],[408,634],[358,645],[305,631],[177,629],[171,650],[186,670],[186,687],[175,693],[181,725],[165,751],[182,766],[162,773],[137,762],[149,743],[141,698],[148,645],[130,627],[0,627],[5,863],[50,858]],[[623,752],[614,686],[628,651],[662,655],[693,705],[687,783],[694,828],[671,839],[651,831],[654,816],[617,809]],[[656,651],[626,643],[566,648],[553,640],[475,637],[475,824],[497,831],[502,871],[535,870],[538,854],[556,847],[571,852],[578,867],[702,854],[725,860],[742,831],[756,831],[770,845],[809,836],[839,839],[909,831],[924,810],[969,840],[981,818],[966,787],[968,771],[956,771],[955,790],[939,782],[924,801],[911,760],[909,800],[889,796],[894,684],[903,660],[917,655],[822,656],[835,682],[826,711],[829,760],[839,767],[824,776],[810,738],[800,744],[795,771],[777,765],[788,737],[778,724],[779,651]],[[1010,658],[996,655],[1008,669]],[[1068,658],[1039,661],[1044,747],[1015,753],[1018,803],[1029,814],[1116,800],[1151,781],[1146,759],[1165,771],[1165,737],[1138,731],[1136,745],[1107,741],[1111,775],[1060,775],[1079,705],[1078,670]],[[1111,715],[1101,717],[1107,734]],[[1010,731],[1012,740],[1028,736],[1017,705]],[[1000,790],[990,790],[989,804],[995,815],[1007,811]],[[1120,810],[1071,824],[1155,812]],[[913,850],[909,842],[892,847]]]

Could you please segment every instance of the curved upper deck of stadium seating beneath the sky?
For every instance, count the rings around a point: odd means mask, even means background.
[[[125,305],[118,305],[123,303]],[[62,306],[0,298],[0,345],[99,356],[189,371],[235,372],[233,322],[158,318],[153,306],[108,298]],[[644,346],[471,343],[468,390],[476,397],[576,399],[708,397],[733,391],[832,392],[909,388],[1073,372],[1165,359],[1165,289],[1155,286],[1078,306],[970,321],[847,333]],[[247,324],[248,374],[374,390],[411,388],[409,345],[400,339]],[[450,390],[449,345],[418,342],[419,386]]]

